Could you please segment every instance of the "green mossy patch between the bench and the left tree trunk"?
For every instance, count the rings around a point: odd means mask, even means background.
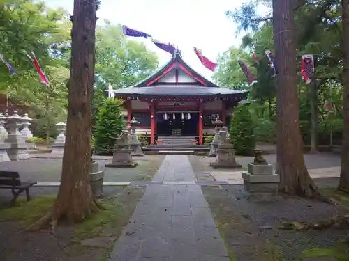
[[[18,221],[21,227],[34,223],[53,206],[56,196],[40,196],[27,202],[24,198],[18,198],[14,207],[0,210],[1,220]]]

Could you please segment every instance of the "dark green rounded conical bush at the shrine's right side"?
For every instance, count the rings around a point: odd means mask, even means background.
[[[251,114],[246,104],[237,106],[234,111],[230,128],[230,141],[237,150],[237,154],[253,155],[255,136]]]

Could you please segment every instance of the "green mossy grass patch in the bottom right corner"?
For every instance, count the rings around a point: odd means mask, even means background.
[[[302,251],[301,258],[322,258],[332,257],[339,261],[349,261],[348,246],[338,246],[336,248],[310,248]]]

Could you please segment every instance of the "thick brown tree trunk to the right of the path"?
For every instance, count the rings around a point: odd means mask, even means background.
[[[273,0],[276,65],[276,141],[279,190],[291,195],[318,196],[304,163],[299,131],[294,0]]]

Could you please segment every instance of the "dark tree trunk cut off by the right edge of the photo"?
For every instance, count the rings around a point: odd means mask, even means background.
[[[338,189],[349,193],[349,0],[342,1],[343,28],[343,148]]]

